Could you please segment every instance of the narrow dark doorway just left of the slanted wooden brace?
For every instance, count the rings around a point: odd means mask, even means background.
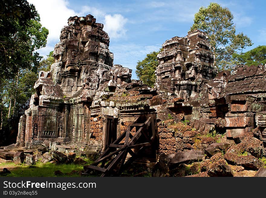
[[[113,116],[105,116],[105,145],[104,149],[106,150],[108,146],[114,142],[117,138],[117,118]]]

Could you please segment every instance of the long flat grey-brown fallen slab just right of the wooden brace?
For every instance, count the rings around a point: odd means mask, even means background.
[[[171,166],[180,163],[186,164],[187,162],[198,162],[203,160],[204,158],[205,158],[205,153],[203,151],[190,150],[190,151],[177,152],[165,155],[164,161],[166,161]]]

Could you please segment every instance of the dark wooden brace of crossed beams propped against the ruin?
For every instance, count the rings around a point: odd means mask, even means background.
[[[104,176],[119,176],[147,148],[158,146],[158,133],[155,115],[137,116],[135,121],[112,142],[105,152],[91,165],[84,166],[83,175],[92,170]],[[135,134],[132,135],[132,129]],[[126,161],[127,156],[129,159]]]

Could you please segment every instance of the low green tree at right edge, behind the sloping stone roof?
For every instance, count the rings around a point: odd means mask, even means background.
[[[266,64],[266,46],[258,46],[245,53],[233,54],[235,64],[259,65]]]

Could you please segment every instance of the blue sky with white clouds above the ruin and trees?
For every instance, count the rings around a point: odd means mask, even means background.
[[[28,0],[49,30],[47,46],[38,52],[46,55],[59,42],[60,30],[70,16],[92,14],[97,23],[104,24],[110,37],[109,49],[114,53],[114,64],[131,68],[132,79],[137,79],[135,67],[147,53],[158,51],[165,40],[186,36],[193,24],[194,14],[201,6],[216,2],[234,15],[236,32],[251,38],[253,46],[266,45],[266,1],[90,1],[90,0]]]

